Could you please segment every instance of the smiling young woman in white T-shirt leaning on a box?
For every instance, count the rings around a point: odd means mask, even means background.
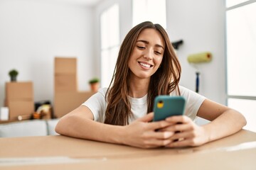
[[[122,42],[109,88],[100,89],[60,118],[60,135],[142,148],[199,146],[231,135],[246,124],[231,108],[178,85],[181,66],[169,36],[159,24],[140,23]],[[186,98],[185,115],[158,122],[153,102],[158,95]],[[199,116],[210,120],[198,126]]]

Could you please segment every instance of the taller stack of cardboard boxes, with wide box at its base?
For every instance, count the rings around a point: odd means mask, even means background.
[[[78,91],[75,57],[55,57],[54,114],[60,118],[78,108],[94,92]]]

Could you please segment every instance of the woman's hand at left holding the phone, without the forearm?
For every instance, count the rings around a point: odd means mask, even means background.
[[[167,128],[171,122],[166,120],[151,122],[152,119],[153,113],[149,113],[130,125],[124,126],[123,143],[142,148],[164,147],[169,144],[174,132],[169,130],[157,132],[157,130]]]

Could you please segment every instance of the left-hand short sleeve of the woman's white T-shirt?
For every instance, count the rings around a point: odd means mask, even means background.
[[[105,94],[107,88],[100,89],[96,94],[92,95],[90,98],[82,103],[82,106],[87,106],[93,114],[94,120],[100,123],[104,123],[105,111],[107,103],[105,101]]]

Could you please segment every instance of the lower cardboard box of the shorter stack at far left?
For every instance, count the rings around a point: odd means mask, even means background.
[[[32,115],[35,106],[33,100],[6,100],[9,108],[9,120],[18,120],[18,115]]]

